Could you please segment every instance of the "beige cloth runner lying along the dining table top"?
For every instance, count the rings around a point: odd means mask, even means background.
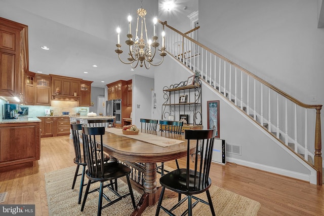
[[[122,129],[113,128],[113,127],[106,128],[106,132],[148,142],[160,147],[169,147],[184,142],[183,140],[172,139],[172,138],[157,136],[149,133],[141,133],[141,132],[139,132],[138,135],[126,135],[123,133]]]

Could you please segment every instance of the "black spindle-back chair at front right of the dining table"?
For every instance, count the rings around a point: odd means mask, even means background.
[[[210,206],[212,215],[215,215],[215,210],[212,202],[212,198],[209,192],[209,188],[212,185],[212,180],[209,177],[210,167],[212,163],[214,140],[216,136],[216,129],[211,130],[185,130],[185,139],[187,140],[187,162],[186,168],[176,169],[165,175],[161,176],[159,181],[162,186],[161,194],[158,200],[155,215],[159,214],[160,209],[163,209],[169,215],[172,211],[179,207],[186,200],[188,201],[188,208],[182,215],[192,215],[192,208],[196,206],[198,202],[205,203]],[[195,142],[195,162],[194,169],[190,169],[190,142]],[[198,151],[200,151],[200,159],[198,159]],[[178,203],[171,209],[167,209],[162,206],[163,196],[165,190],[178,193]],[[196,194],[206,192],[208,201],[196,197]],[[181,199],[181,194],[185,197]],[[194,203],[192,203],[194,199]]]

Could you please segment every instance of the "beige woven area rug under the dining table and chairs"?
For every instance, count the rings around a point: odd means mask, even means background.
[[[75,166],[60,169],[45,173],[46,193],[50,215],[97,215],[98,193],[94,192],[88,195],[85,209],[80,211],[81,204],[77,204],[79,179],[77,178],[76,186],[71,189]],[[88,181],[88,178],[86,181]],[[98,184],[93,184],[92,188],[98,187]],[[86,187],[84,188],[85,191]],[[128,192],[127,184],[118,180],[118,191],[120,194]],[[141,194],[134,191],[135,202],[138,203]],[[108,196],[113,196],[112,193],[107,193]],[[247,197],[240,196],[228,190],[212,186],[210,193],[213,199],[216,215],[257,215],[260,208],[260,203],[251,200]],[[199,195],[207,200],[206,193]],[[172,207],[178,198],[165,199],[163,205]],[[103,199],[103,204],[105,203]],[[102,210],[102,215],[130,215],[133,211],[131,198],[127,198]],[[183,209],[186,208],[186,202],[179,207],[174,213],[180,215]],[[155,215],[156,205],[147,207],[142,215]],[[181,211],[182,210],[182,211]],[[163,210],[159,215],[167,215]],[[193,215],[211,215],[210,208],[206,204],[199,203],[193,208]]]

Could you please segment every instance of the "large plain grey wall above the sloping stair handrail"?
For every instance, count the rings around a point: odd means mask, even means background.
[[[324,104],[316,0],[199,1],[199,10],[200,43],[303,103]]]

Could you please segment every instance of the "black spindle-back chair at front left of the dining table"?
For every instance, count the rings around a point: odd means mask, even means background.
[[[101,215],[101,210],[103,208],[108,207],[129,195],[131,196],[133,207],[135,209],[136,204],[135,204],[134,194],[133,194],[133,190],[129,178],[131,169],[128,166],[125,166],[118,162],[110,162],[110,163],[105,162],[103,151],[100,151],[100,154],[96,153],[96,145],[94,145],[94,143],[98,143],[100,148],[103,149],[103,135],[105,134],[105,128],[89,127],[89,125],[84,124],[82,125],[82,133],[83,133],[83,147],[85,149],[86,163],[88,166],[88,169],[86,170],[86,176],[89,180],[88,180],[85,196],[83,199],[81,211],[84,210],[88,194],[98,191],[97,189],[89,191],[90,185],[93,182],[100,182],[97,215]],[[116,182],[118,178],[123,176],[126,176],[129,193],[125,195],[120,195],[118,193],[118,188],[113,187],[113,181]],[[108,181],[110,183],[104,185],[104,182],[108,182]],[[108,188],[117,197],[108,198],[103,193],[104,188]],[[108,201],[108,203],[104,206],[102,206],[102,198],[105,198]]]

